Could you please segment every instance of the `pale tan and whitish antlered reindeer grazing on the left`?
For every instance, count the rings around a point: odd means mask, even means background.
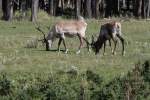
[[[79,16],[78,20],[60,21],[56,23],[50,29],[47,37],[45,37],[44,32],[39,27],[37,28],[37,30],[42,32],[44,35],[43,41],[46,44],[47,51],[51,48],[53,41],[56,38],[59,38],[58,51],[60,51],[60,44],[63,41],[65,47],[65,53],[67,53],[68,49],[66,47],[65,37],[78,36],[80,40],[80,46],[77,51],[77,54],[79,54],[80,49],[83,47],[83,41],[85,41],[87,43],[87,46],[89,46],[89,42],[85,38],[86,28],[87,28],[87,23],[85,22],[83,17]]]

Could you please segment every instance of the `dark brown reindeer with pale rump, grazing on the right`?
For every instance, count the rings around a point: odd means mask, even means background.
[[[94,37],[92,36],[91,47],[94,50],[95,54],[99,53],[99,50],[104,45],[104,53],[105,53],[105,45],[106,41],[109,40],[111,46],[111,39],[114,42],[114,49],[112,53],[115,54],[117,38],[120,39],[122,43],[122,55],[124,55],[124,38],[121,36],[121,23],[119,22],[110,22],[101,26],[99,37],[97,41],[94,41]]]

